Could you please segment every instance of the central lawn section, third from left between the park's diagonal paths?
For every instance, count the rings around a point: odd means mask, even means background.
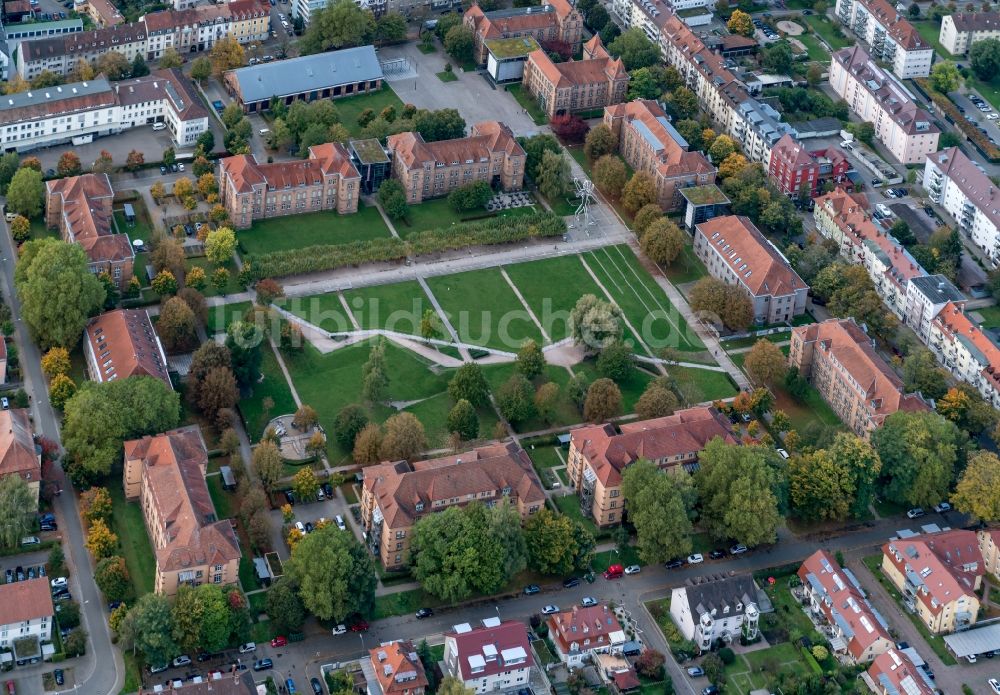
[[[508,352],[529,338],[542,344],[538,326],[499,268],[428,278],[427,285],[462,342]]]

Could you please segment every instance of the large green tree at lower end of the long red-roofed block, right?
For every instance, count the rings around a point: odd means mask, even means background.
[[[933,412],[897,411],[872,433],[882,460],[880,496],[896,504],[931,506],[948,495],[966,438]]]

